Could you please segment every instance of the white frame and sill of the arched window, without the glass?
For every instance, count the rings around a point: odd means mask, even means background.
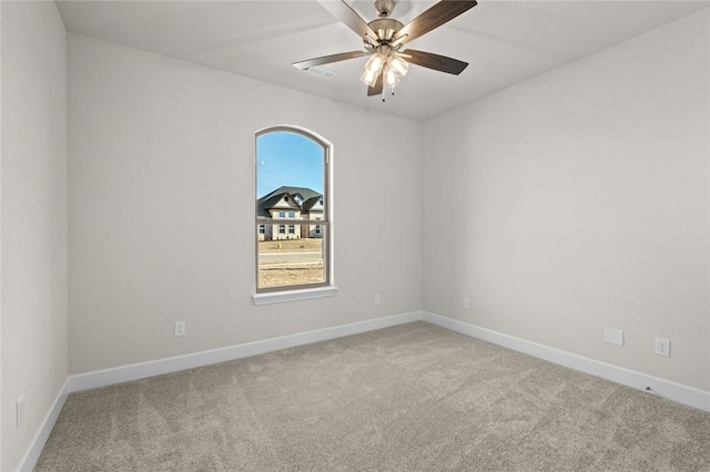
[[[254,295],[253,301],[255,305],[266,305],[266,304],[277,304],[284,301],[296,301],[303,299],[311,298],[323,298],[323,297],[332,297],[337,293],[337,286],[334,280],[334,225],[333,225],[333,144],[316,133],[297,126],[288,126],[288,125],[278,125],[267,127],[255,133],[254,140],[254,157],[255,157],[255,172],[254,178],[256,178],[256,172],[258,167],[256,166],[257,160],[257,148],[256,148],[256,140],[267,133],[273,132],[291,132],[297,133],[305,136],[308,140],[314,141],[318,145],[323,147],[323,158],[324,158],[324,189],[323,189],[323,218],[317,218],[317,225],[324,226],[325,232],[323,235],[323,264],[324,264],[324,278],[323,283],[318,284],[304,284],[304,285],[292,285],[292,286],[283,286],[283,287],[268,287],[268,288],[258,288],[258,237],[256,237],[256,246],[255,246],[255,265],[254,265]],[[291,223],[293,219],[291,219]],[[316,219],[303,219],[300,220],[300,225],[313,225]],[[287,219],[281,218],[260,218],[256,215],[256,224],[272,224],[272,225],[282,225],[288,224]],[[295,227],[294,227],[295,232]]]

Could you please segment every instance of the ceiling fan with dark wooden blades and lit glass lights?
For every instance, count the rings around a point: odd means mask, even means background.
[[[369,23],[345,3],[345,0],[318,2],[362,38],[364,50],[294,62],[293,66],[296,69],[307,70],[316,65],[369,55],[361,80],[367,84],[367,96],[373,96],[386,89],[394,91],[409,70],[409,63],[455,75],[460,74],[468,65],[466,62],[432,52],[414,49],[402,51],[402,48],[474,8],[476,0],[442,0],[406,25],[389,18],[395,8],[394,0],[375,0],[375,11],[379,18]]]

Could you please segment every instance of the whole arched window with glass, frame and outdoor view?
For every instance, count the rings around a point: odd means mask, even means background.
[[[332,287],[331,147],[297,127],[256,133],[257,304],[274,300],[258,294]]]

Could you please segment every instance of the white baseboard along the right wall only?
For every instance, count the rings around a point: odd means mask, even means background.
[[[422,319],[433,325],[503,346],[519,352],[524,352],[539,359],[548,360],[570,369],[579,370],[612,382],[621,383],[638,390],[646,391],[650,387],[651,392],[659,397],[687,404],[700,410],[710,411],[710,392],[693,387],[676,383],[670,380],[648,376],[646,373],[625,369],[622,367],[589,359],[571,352],[538,345],[514,336],[504,335],[490,329],[480,328],[452,318],[446,318],[428,311],[424,311]]]

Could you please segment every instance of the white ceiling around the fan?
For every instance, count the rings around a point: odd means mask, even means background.
[[[366,20],[372,0],[348,0]],[[407,23],[433,0],[399,0]],[[365,96],[366,58],[328,64],[323,79],[291,63],[361,49],[362,41],[317,1],[58,0],[67,29],[413,120],[575,61],[703,8],[708,1],[479,0],[474,9],[407,47],[469,63],[458,76],[412,66],[396,95]]]

